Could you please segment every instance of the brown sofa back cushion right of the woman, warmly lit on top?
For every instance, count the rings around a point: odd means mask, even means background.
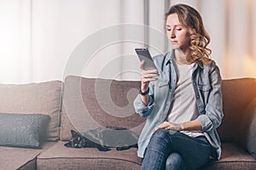
[[[234,141],[239,138],[239,129],[247,105],[256,98],[256,79],[240,78],[224,80],[222,85],[224,119],[218,134],[222,141]]]

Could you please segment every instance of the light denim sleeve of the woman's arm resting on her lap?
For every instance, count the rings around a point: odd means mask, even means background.
[[[206,133],[219,127],[224,116],[221,92],[222,79],[217,65],[212,68],[210,77],[212,88],[207,98],[205,96],[207,99],[205,114],[197,117],[197,120],[201,122],[202,131]]]

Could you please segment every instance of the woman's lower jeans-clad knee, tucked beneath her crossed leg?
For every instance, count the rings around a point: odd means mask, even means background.
[[[171,153],[166,159],[166,170],[171,170],[171,169],[184,170],[185,169],[184,165],[185,164],[182,156],[180,156],[176,152]]]

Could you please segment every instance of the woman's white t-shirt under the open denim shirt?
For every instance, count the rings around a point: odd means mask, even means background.
[[[166,121],[182,123],[195,120],[199,116],[196,105],[195,91],[192,84],[193,65],[177,66],[177,86],[174,91],[172,105]],[[203,135],[201,131],[181,131],[189,136],[197,137]]]

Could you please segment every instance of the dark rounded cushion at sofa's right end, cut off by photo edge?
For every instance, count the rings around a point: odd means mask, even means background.
[[[236,125],[234,125],[236,127]],[[256,98],[242,113],[237,141],[256,159]]]

